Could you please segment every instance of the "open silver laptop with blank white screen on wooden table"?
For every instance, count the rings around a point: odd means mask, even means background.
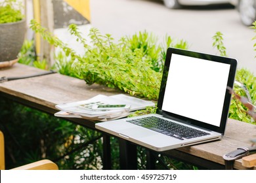
[[[101,122],[106,133],[155,151],[223,137],[237,61],[168,48],[156,114]]]

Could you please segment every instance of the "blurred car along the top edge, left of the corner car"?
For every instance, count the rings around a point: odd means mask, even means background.
[[[165,7],[167,8],[180,8],[181,5],[216,5],[216,4],[228,4],[229,0],[163,0]]]

